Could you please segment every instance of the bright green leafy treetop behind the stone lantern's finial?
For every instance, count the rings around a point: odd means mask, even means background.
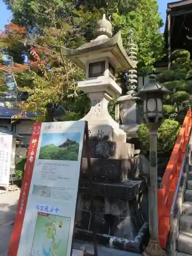
[[[156,0],[123,0],[123,1],[102,1],[86,5],[77,10],[75,14],[83,23],[82,27],[86,37],[91,39],[95,22],[101,18],[102,13],[107,13],[114,27],[114,33],[121,30],[123,46],[129,46],[130,29],[134,29],[137,41],[138,70],[146,73],[154,69],[154,63],[162,58],[163,36],[159,28],[163,26],[162,19],[158,12]],[[102,3],[102,6],[101,6]],[[99,9],[101,8],[101,9]],[[153,17],[153,18],[152,18]]]

